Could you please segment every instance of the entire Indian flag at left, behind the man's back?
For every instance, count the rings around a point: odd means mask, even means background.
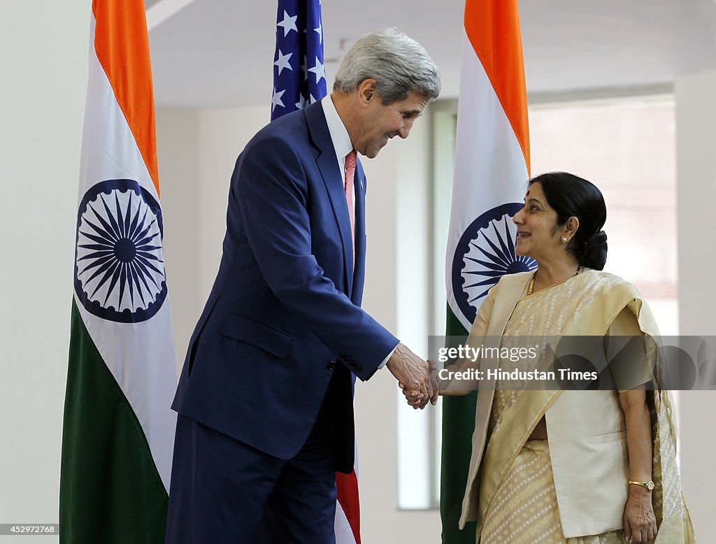
[[[142,0],[94,0],[60,541],[164,541],[176,366]]]

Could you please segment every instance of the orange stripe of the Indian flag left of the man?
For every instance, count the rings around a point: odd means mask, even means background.
[[[95,52],[159,194],[154,89],[144,0],[93,0]]]

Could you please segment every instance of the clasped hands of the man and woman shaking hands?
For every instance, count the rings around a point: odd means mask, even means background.
[[[437,404],[439,382],[435,361],[420,359],[400,343],[385,366],[397,379],[398,387],[402,389],[407,403],[414,409],[422,410],[427,406],[427,402],[433,406]]]

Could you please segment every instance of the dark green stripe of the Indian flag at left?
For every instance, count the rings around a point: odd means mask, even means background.
[[[60,542],[163,543],[168,495],[127,397],[72,300]]]

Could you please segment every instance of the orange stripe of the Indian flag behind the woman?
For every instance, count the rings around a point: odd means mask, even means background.
[[[467,0],[465,31],[510,120],[530,172],[530,132],[517,0]]]

